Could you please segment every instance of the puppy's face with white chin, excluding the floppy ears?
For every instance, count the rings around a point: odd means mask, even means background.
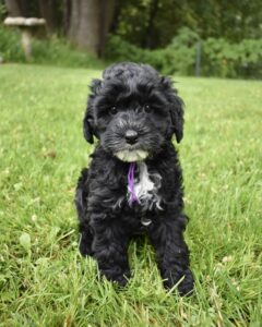
[[[143,160],[158,152],[170,124],[162,93],[135,77],[105,84],[95,99],[102,146],[123,161]]]

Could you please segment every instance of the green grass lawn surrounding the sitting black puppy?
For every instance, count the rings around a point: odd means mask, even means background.
[[[82,117],[99,74],[0,66],[0,326],[261,326],[262,83],[176,78],[196,280],[181,299],[164,291],[147,242],[131,244],[120,292],[78,252],[74,187],[93,150]]]

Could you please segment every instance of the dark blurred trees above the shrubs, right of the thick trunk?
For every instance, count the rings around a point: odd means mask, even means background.
[[[111,32],[142,48],[168,45],[187,26],[202,39],[259,38],[261,0],[119,0]]]

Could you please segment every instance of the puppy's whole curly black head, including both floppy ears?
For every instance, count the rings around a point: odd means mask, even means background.
[[[85,136],[92,142],[95,134],[104,149],[122,161],[154,156],[176,133],[174,120],[182,123],[180,99],[170,82],[151,66],[109,66],[103,81],[93,82],[92,90],[84,120]]]

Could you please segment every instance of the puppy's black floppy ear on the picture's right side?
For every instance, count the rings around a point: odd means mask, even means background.
[[[169,102],[171,118],[170,137],[175,134],[177,143],[179,143],[183,137],[183,101],[177,95],[177,90],[172,87],[172,83],[168,77],[163,77],[162,84]]]

